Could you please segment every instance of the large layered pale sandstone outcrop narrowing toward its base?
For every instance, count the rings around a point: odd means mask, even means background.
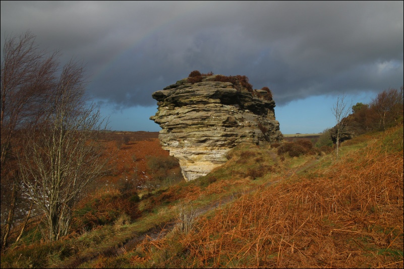
[[[240,143],[283,138],[270,93],[209,81],[212,77],[194,84],[184,79],[152,94],[158,111],[150,119],[162,128],[162,148],[179,160],[186,180],[225,163],[227,152]]]

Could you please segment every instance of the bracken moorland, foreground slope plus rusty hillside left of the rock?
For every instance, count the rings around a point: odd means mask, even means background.
[[[38,216],[2,267],[402,267],[402,141],[402,124],[362,134],[338,162],[305,139],[294,157],[241,145],[186,182],[157,133],[112,132],[117,167],[72,233],[43,240]]]

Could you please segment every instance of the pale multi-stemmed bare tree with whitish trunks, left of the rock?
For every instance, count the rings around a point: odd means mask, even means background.
[[[68,234],[73,207],[106,163],[99,141],[106,123],[84,91],[83,66],[71,61],[19,161],[23,191],[44,212],[50,240]]]

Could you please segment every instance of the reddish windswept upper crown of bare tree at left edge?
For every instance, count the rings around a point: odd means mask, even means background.
[[[54,88],[57,54],[53,52],[46,57],[29,31],[18,38],[6,38],[1,71],[1,164],[16,128],[38,118],[43,101]]]

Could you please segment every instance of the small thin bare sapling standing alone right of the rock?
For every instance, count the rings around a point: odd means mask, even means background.
[[[347,105],[345,102],[346,95],[342,94],[342,96],[337,97],[336,103],[332,106],[331,111],[335,117],[336,125],[335,129],[335,160],[338,161],[338,151],[339,151],[339,141],[342,136],[342,132],[347,125],[347,117],[350,113],[351,105]]]

